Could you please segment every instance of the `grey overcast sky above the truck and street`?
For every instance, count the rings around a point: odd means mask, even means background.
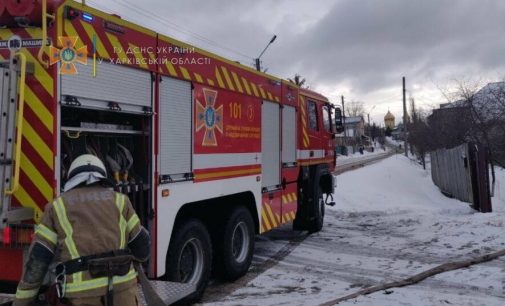
[[[436,106],[456,80],[505,76],[501,0],[93,0],[124,19],[268,73],[295,73],[340,103],[363,101],[372,120],[401,114],[401,77],[416,103]],[[374,107],[375,106],[375,107]],[[372,110],[373,109],[373,110]]]

